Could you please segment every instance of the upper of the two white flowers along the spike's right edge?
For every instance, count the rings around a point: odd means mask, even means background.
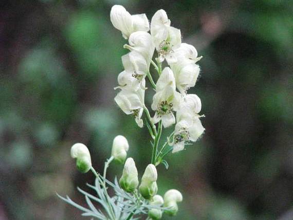
[[[199,66],[195,64],[200,58],[197,58],[196,49],[189,44],[182,43],[178,49],[174,51],[176,62],[171,63],[170,67],[174,72],[176,87],[181,94],[185,94],[186,90],[195,86],[199,75]]]

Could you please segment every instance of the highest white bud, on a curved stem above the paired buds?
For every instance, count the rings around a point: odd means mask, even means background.
[[[113,156],[116,161],[124,163],[128,149],[129,144],[127,139],[122,135],[118,135],[113,140],[111,156]]]

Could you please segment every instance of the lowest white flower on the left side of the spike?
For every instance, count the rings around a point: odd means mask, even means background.
[[[145,86],[145,80],[142,80],[142,86]],[[144,107],[144,89],[124,89],[116,95],[115,102],[126,115],[133,115],[139,127],[143,126],[141,119]]]

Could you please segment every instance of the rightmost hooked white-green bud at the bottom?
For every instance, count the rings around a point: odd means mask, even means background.
[[[168,215],[176,215],[178,212],[177,203],[182,201],[182,194],[178,190],[168,190],[164,194],[164,207],[167,207],[168,210],[165,212]]]

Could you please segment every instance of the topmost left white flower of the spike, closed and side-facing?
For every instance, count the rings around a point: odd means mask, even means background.
[[[145,14],[131,15],[121,5],[114,5],[111,9],[110,19],[115,28],[122,32],[123,38],[129,38],[135,31],[149,31],[150,25]]]

